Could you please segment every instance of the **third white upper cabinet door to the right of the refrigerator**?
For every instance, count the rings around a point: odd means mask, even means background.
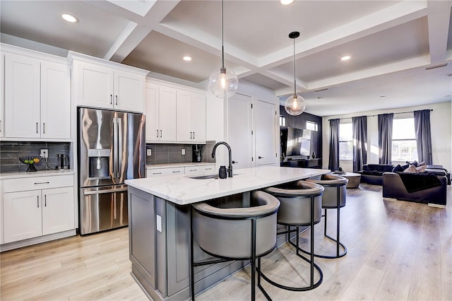
[[[192,142],[193,131],[191,130],[191,93],[177,90],[176,101],[176,140],[178,142]]]

